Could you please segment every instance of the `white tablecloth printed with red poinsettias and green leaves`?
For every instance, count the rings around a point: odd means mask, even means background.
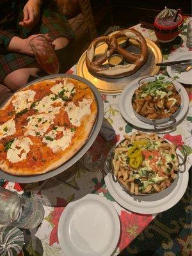
[[[189,17],[184,17],[184,28],[180,34],[183,43],[178,49],[173,49],[170,54],[163,55],[163,61],[166,61],[170,55],[174,55],[175,52],[189,52],[191,49],[186,47],[186,28],[189,22]],[[145,37],[150,38],[156,42],[156,36],[153,30],[141,28],[140,24],[134,26],[135,29],[140,31]],[[76,74],[76,65],[68,70],[69,74]],[[166,71],[161,71],[166,75]],[[192,78],[192,77],[191,77]],[[188,88],[189,95],[189,111],[186,118],[181,124],[177,126],[176,131],[164,134],[164,138],[174,142],[177,145],[183,145],[188,153],[187,168],[191,166],[192,161],[192,148],[191,148],[191,122],[192,117],[189,115],[192,110],[191,99],[192,94]],[[97,141],[102,145],[104,154],[107,154],[109,149],[116,143],[116,141],[122,140],[123,135],[129,132],[133,132],[134,129],[131,125],[127,124],[120,115],[120,109],[118,108],[119,95],[102,95],[104,101],[104,118],[113,126],[116,132],[116,138],[112,141],[106,142],[100,136],[97,137]],[[45,216],[42,224],[38,230],[26,230],[25,235],[27,237],[26,244],[23,248],[24,255],[33,256],[59,256],[63,255],[61,252],[60,244],[58,243],[58,221],[60,215],[65,209],[65,206],[72,200],[77,200],[88,193],[95,193],[100,196],[106,197],[111,204],[114,205],[121,223],[121,234],[117,247],[113,255],[118,255],[131,241],[142,232],[143,228],[147,227],[148,223],[156,216],[137,214],[131,211],[125,210],[119,204],[115,202],[113,197],[109,194],[108,188],[104,183],[104,179],[100,172],[88,172],[84,170],[81,164],[76,163],[67,172],[61,173],[60,180],[67,180],[70,184],[79,186],[80,190],[70,188],[65,184],[61,184],[56,180],[45,180],[44,182],[33,184],[17,184],[0,179],[0,184],[4,188],[12,191],[17,191],[19,194],[30,196],[31,198],[38,198],[44,204]],[[22,252],[19,254],[22,255]]]

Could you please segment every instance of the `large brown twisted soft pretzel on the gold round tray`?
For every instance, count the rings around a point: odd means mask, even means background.
[[[140,54],[134,54],[128,52],[120,45],[118,45],[117,39],[125,36],[128,39],[134,39],[140,44]],[[94,60],[95,48],[102,42],[108,44],[108,51],[106,51],[97,60]],[[117,65],[115,67],[106,67],[102,64],[108,60],[109,56],[118,52],[122,54],[124,60],[128,62],[126,65]],[[111,36],[100,36],[95,38],[86,51],[86,66],[90,72],[97,76],[103,77],[119,77],[129,76],[136,72],[147,61],[148,47],[145,38],[140,32],[135,29],[122,29]]]

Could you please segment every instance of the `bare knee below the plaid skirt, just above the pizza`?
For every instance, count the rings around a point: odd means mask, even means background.
[[[16,91],[20,87],[28,83],[28,79],[29,79],[28,73],[24,73],[21,70],[15,70],[4,78],[4,84],[8,88],[10,88],[10,90]]]

